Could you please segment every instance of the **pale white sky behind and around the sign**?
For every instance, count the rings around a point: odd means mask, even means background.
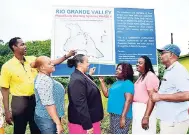
[[[169,44],[173,33],[181,54],[189,53],[189,0],[0,0],[0,39],[51,39],[53,6],[154,9],[157,48]]]

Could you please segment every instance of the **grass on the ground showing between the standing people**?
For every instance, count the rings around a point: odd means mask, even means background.
[[[102,96],[102,101],[103,101],[103,108],[104,108],[104,119],[101,121],[101,129],[103,134],[108,134],[109,133],[109,114],[107,113],[107,98]],[[68,134],[68,126],[67,126],[67,107],[68,107],[68,97],[66,95],[65,97],[65,116],[62,119],[62,124],[64,128],[64,134]],[[159,128],[159,121],[157,121],[157,133],[159,133],[160,128]],[[5,125],[5,133],[6,134],[13,134],[13,126],[10,125]],[[29,134],[29,126],[27,126],[26,133]],[[131,128],[129,133],[131,134]],[[189,134],[189,130],[188,130]]]

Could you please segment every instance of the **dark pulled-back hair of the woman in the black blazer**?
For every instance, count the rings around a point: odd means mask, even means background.
[[[77,68],[78,63],[83,63],[84,54],[77,54],[72,59],[68,59],[67,65],[69,68]]]

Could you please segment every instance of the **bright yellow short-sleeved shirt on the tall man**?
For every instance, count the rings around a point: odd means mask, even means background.
[[[37,70],[31,68],[30,63],[34,62],[35,59],[34,56],[25,56],[23,65],[16,57],[7,61],[1,69],[0,86],[9,88],[10,93],[14,96],[34,94],[34,79]]]

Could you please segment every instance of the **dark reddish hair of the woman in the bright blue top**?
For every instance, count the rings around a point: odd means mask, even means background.
[[[134,71],[133,71],[133,68],[131,66],[131,64],[129,63],[119,63],[117,65],[117,68],[119,66],[122,66],[122,72],[121,72],[121,75],[123,77],[124,80],[130,80],[131,82],[133,82],[133,79],[134,79]]]

